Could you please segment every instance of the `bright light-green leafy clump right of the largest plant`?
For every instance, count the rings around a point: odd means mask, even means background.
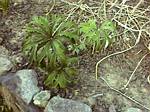
[[[94,19],[89,19],[87,22],[80,24],[80,33],[85,46],[93,48],[93,51],[107,48],[114,39],[115,30],[115,25],[108,20],[102,23],[101,26],[98,26]]]

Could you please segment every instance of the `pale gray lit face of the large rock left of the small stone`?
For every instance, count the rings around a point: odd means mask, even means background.
[[[20,70],[16,73],[16,76],[18,76],[21,80],[18,93],[20,93],[22,99],[29,104],[33,95],[39,91],[39,88],[37,87],[37,74],[33,70]]]

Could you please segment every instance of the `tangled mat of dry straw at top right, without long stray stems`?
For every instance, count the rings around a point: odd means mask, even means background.
[[[70,1],[70,0],[69,0]],[[139,32],[140,38],[145,41],[145,45],[148,45],[150,35],[150,7],[141,7],[145,2],[139,0],[137,4],[128,3],[127,0],[123,0],[119,3],[118,0],[114,2],[112,0],[102,0],[101,2],[80,0],[79,2],[69,2],[68,0],[61,0],[63,12],[70,14],[70,10],[76,8],[77,10],[72,13],[70,18],[79,23],[88,18],[97,19],[97,23],[101,24],[106,19],[111,19],[117,24],[118,35],[117,38],[120,44],[124,44],[124,48],[131,47],[135,44],[138,38]],[[129,5],[133,4],[133,5]],[[60,7],[59,7],[60,8]],[[122,46],[122,45],[121,45]]]

